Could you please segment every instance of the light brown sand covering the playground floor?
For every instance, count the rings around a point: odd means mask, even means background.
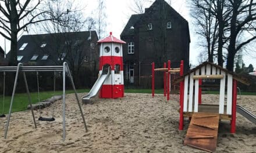
[[[83,96],[84,94],[79,94]],[[218,95],[204,94],[213,103]],[[256,96],[242,96],[237,104],[256,114]],[[30,111],[12,114],[8,139],[3,139],[6,118],[0,118],[0,152],[204,152],[183,145],[189,121],[179,131],[179,102],[156,94],[126,93],[123,99],[93,99],[83,104],[88,132],[84,129],[73,94],[66,96],[66,141],[62,142],[62,101],[55,104],[54,122],[37,122]],[[53,106],[53,105],[52,105]],[[51,116],[52,106],[42,110]],[[38,118],[40,112],[35,111]],[[219,124],[216,152],[255,152],[256,125],[237,114],[236,134],[229,122]]]

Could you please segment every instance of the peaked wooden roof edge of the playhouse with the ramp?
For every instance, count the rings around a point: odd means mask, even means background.
[[[186,74],[184,74],[182,77],[175,79],[175,80],[173,81],[173,83],[179,83],[179,82],[183,81],[183,79],[184,79],[184,77],[186,77],[186,75],[189,75],[189,74],[195,72],[196,70],[200,69],[201,67],[203,67],[203,66],[205,66],[205,65],[207,65],[207,64],[212,65],[212,66],[214,66],[214,67],[216,67],[216,68],[219,68],[220,70],[225,71],[227,74],[231,74],[231,75],[233,76],[233,79],[235,79],[236,81],[239,81],[239,82],[244,83],[244,84],[246,84],[246,85],[250,85],[250,81],[249,81],[247,78],[241,77],[241,76],[235,74],[234,72],[231,72],[231,71],[229,71],[229,70],[226,70],[225,68],[223,68],[223,67],[221,67],[221,66],[219,66],[219,65],[216,65],[216,64],[214,64],[214,63],[208,62],[208,61],[205,61],[204,63],[198,65],[198,66],[195,67],[195,68],[193,68],[192,70],[190,70],[189,72],[187,72]]]

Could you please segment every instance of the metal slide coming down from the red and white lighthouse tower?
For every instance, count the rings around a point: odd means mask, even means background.
[[[105,82],[106,78],[108,78],[110,71],[111,71],[110,67],[108,67],[107,74],[104,74],[104,71],[102,71],[102,74],[99,76],[97,81],[94,83],[93,88],[91,88],[90,92],[86,96],[82,97],[83,101],[90,100],[91,97],[94,97],[97,95],[99,89],[101,89],[102,84]]]

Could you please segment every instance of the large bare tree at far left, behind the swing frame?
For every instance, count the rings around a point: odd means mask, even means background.
[[[27,31],[27,26],[41,21],[51,20],[48,10],[39,9],[42,1],[0,0],[0,34],[11,43],[9,64],[17,63],[17,35]],[[47,16],[39,19],[40,16]],[[60,16],[62,14],[59,14]]]

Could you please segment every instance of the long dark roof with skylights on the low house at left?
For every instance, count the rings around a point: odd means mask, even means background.
[[[80,50],[88,50],[90,48],[90,40],[95,45],[98,41],[96,31],[81,31],[81,32],[64,32],[54,34],[38,34],[38,35],[23,35],[17,42],[17,56],[23,56],[22,63],[34,63],[36,65],[56,65],[60,53],[65,53],[67,43],[76,45],[80,43]],[[24,43],[28,43],[24,50],[20,50]],[[46,43],[44,48],[41,48],[42,43]],[[78,50],[79,50],[78,49]],[[31,57],[38,55],[36,60],[31,60]],[[43,56],[49,55],[47,60],[41,60]],[[67,56],[67,55],[66,55]]]

